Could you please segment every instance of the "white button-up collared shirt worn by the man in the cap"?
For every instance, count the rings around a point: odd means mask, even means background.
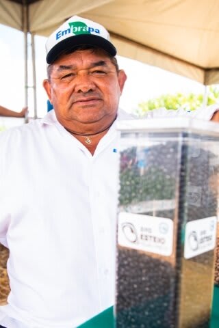
[[[73,328],[114,303],[115,125],[94,156],[54,111],[1,133],[0,241],[11,286],[1,325]]]

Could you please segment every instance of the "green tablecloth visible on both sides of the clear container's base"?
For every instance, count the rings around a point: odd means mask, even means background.
[[[214,287],[213,307],[211,313],[211,325],[209,328],[219,327],[219,287]],[[101,312],[78,328],[114,328],[113,307]]]

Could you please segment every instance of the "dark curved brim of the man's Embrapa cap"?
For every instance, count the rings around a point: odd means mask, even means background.
[[[93,34],[80,34],[79,36],[70,36],[53,46],[47,53],[47,64],[52,64],[64,51],[83,45],[97,46],[110,53],[113,57],[116,55],[116,48],[105,38]]]

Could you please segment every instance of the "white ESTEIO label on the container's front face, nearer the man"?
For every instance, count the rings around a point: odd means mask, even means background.
[[[172,243],[172,220],[151,215],[119,213],[118,245],[170,256]]]

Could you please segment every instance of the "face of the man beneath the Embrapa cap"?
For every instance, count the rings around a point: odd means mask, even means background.
[[[112,122],[125,80],[125,72],[116,72],[104,51],[83,50],[57,59],[44,88],[57,120],[80,130],[84,124],[98,128]]]

